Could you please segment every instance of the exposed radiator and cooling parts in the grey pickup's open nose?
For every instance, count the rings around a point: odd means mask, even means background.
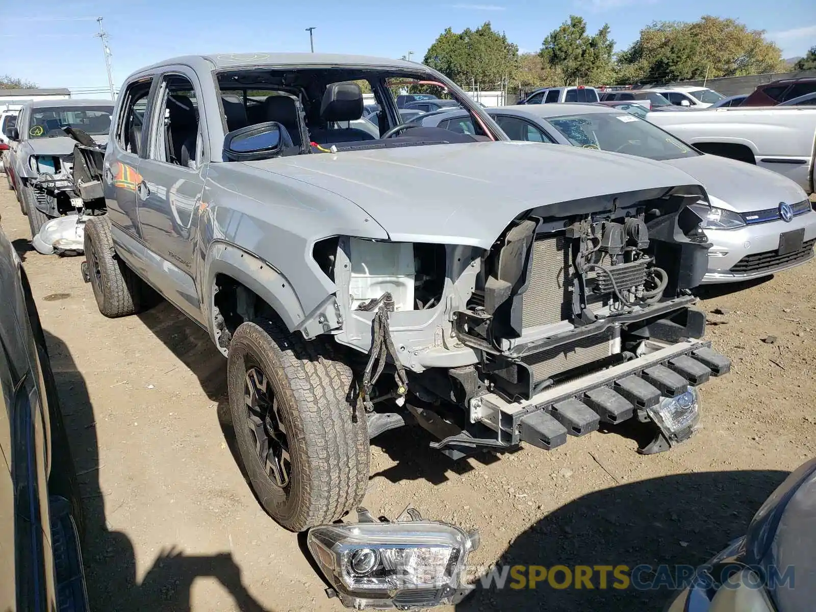
[[[696,223],[685,207],[678,215],[643,206],[517,220],[485,259],[468,309],[459,313],[459,337],[484,351],[483,370],[508,397],[529,398],[580,374],[576,369],[632,357],[644,338],[614,320],[637,321],[696,285],[708,247]],[[538,341],[559,335],[567,341]]]

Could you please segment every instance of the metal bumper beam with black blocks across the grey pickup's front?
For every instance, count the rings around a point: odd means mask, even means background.
[[[508,401],[496,393],[473,398],[471,420],[496,432],[501,446],[525,441],[552,450],[568,436],[595,431],[601,421],[649,420],[650,408],[709,376],[728,374],[730,367],[730,359],[710,342],[688,339],[545,389],[527,401]]]

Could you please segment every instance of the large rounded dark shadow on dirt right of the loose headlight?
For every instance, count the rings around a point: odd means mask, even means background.
[[[745,533],[748,522],[787,472],[701,472],[633,482],[586,494],[543,517],[508,546],[502,565],[700,565]],[[483,539],[490,538],[482,533]],[[557,584],[564,574],[557,574]],[[649,574],[644,574],[648,579]],[[662,610],[671,596],[652,591],[484,588],[456,608],[477,610]],[[610,574],[609,585],[614,580]]]

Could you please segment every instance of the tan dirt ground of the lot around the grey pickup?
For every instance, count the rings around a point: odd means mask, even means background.
[[[226,362],[202,330],[166,303],[102,317],[82,258],[31,251],[5,177],[2,188],[2,228],[24,258],[81,475],[94,610],[340,610],[304,539],[277,526],[242,477]],[[705,561],[816,455],[816,262],[702,295],[708,336],[734,367],[703,388],[703,429],[690,441],[641,456],[636,432],[596,432],[551,452],[454,463],[421,430],[397,430],[372,447],[366,507],[396,517],[413,503],[477,527],[473,572]],[[666,597],[539,585],[477,590],[457,610],[659,610]]]

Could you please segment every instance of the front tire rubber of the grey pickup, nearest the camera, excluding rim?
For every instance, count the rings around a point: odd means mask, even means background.
[[[333,358],[331,348],[269,320],[242,323],[229,347],[229,406],[246,474],[264,509],[292,531],[339,519],[361,503],[368,484],[366,414],[349,404],[352,371]],[[250,364],[271,383],[286,427],[291,459],[286,489],[268,476],[246,424]]]

